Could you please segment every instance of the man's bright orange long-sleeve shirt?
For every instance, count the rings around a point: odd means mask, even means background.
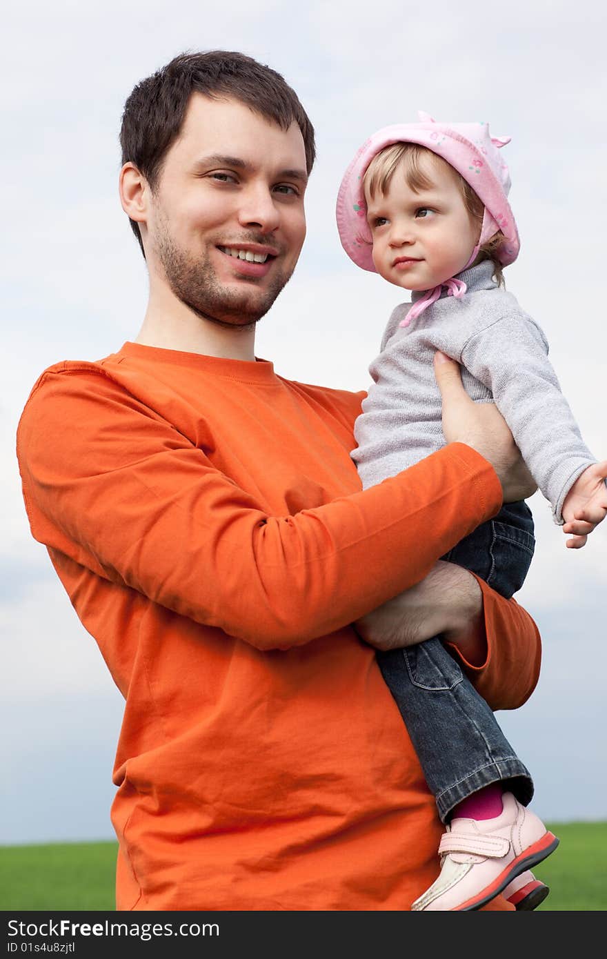
[[[32,391],[32,532],[126,699],[119,909],[408,909],[436,875],[432,796],[349,623],[494,515],[501,487],[452,444],[362,492],[362,395],[134,343]],[[481,587],[488,653],[469,672],[514,708],[539,636]]]

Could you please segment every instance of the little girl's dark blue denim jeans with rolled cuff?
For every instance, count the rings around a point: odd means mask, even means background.
[[[534,546],[526,503],[505,503],[493,520],[442,558],[477,573],[510,598],[523,585]],[[528,770],[439,637],[378,652],[377,659],[443,822],[458,803],[491,783],[502,782],[525,806],[530,802],[533,782]]]

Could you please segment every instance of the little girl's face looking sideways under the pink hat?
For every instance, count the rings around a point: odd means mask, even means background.
[[[455,276],[470,260],[480,235],[453,167],[433,154],[423,163],[430,189],[415,193],[397,169],[385,194],[365,197],[375,269],[405,290],[432,290]]]

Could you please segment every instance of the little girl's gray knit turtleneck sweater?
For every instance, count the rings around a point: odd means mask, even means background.
[[[373,384],[356,421],[352,457],[367,487],[445,445],[432,365],[438,349],[461,363],[463,385],[475,402],[495,402],[562,524],[565,497],[595,456],[561,392],[544,333],[492,274],[490,262],[464,270],[464,296],[443,292],[409,327],[399,323],[410,303],[395,308],[369,367]],[[413,293],[413,301],[420,295]]]

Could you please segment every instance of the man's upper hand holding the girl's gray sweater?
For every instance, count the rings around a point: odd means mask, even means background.
[[[537,485],[494,403],[475,403],[461,383],[459,365],[434,354],[434,376],[443,401],[443,433],[448,443],[466,443],[488,459],[502,483],[503,502],[525,500]]]

